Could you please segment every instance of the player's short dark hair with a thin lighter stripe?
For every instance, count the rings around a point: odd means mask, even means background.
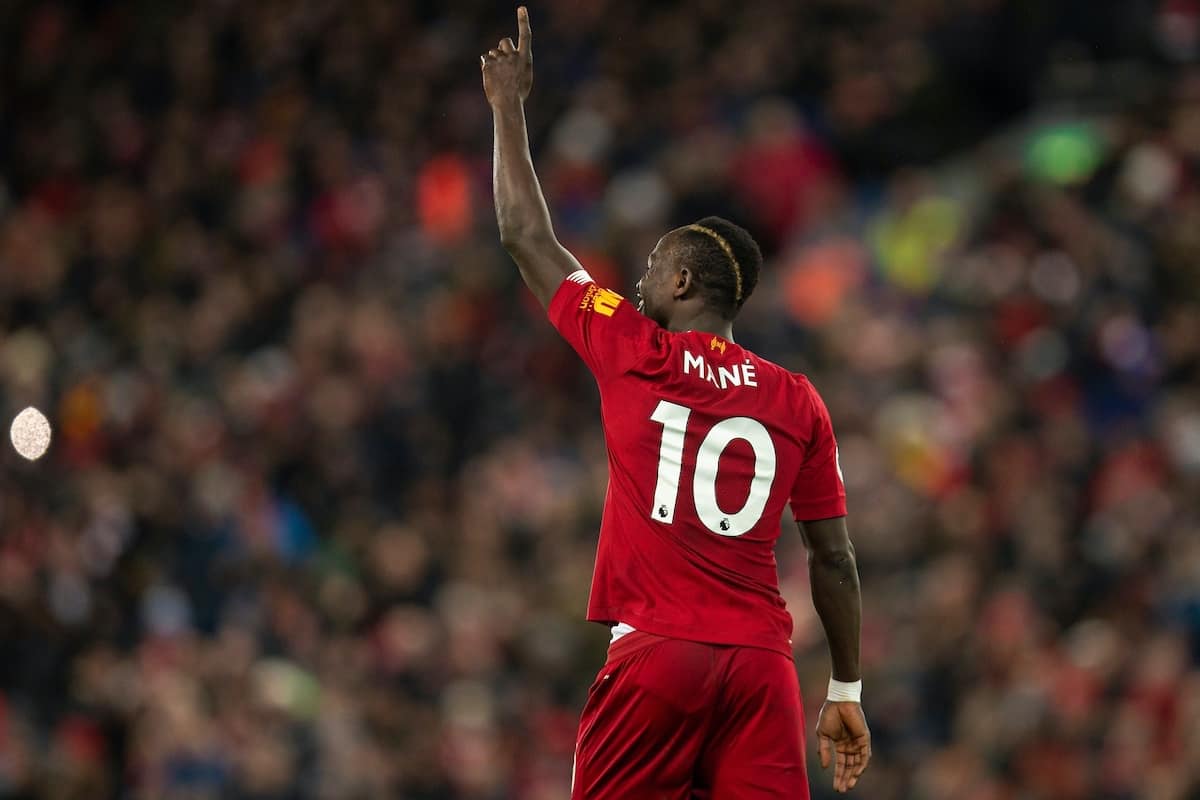
[[[724,217],[697,219],[680,233],[688,246],[688,265],[704,300],[725,319],[733,319],[758,283],[758,242]]]

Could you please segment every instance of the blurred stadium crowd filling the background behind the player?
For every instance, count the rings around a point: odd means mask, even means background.
[[[767,251],[739,341],[812,377],[848,482],[856,794],[1200,798],[1200,4],[532,17],[594,275],[707,213]],[[0,796],[566,796],[605,459],[497,242],[512,34],[0,2],[0,397],[56,433],[0,457]]]

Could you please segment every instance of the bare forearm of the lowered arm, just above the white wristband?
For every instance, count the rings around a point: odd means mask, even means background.
[[[862,673],[858,649],[863,610],[854,546],[846,542],[842,547],[810,551],[809,579],[812,606],[829,642],[833,676],[841,681],[859,680]]]

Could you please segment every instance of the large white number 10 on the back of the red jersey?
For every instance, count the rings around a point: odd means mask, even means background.
[[[659,479],[654,486],[654,505],[650,518],[665,525],[674,522],[676,504],[679,499],[679,475],[683,471],[683,445],[691,409],[686,405],[659,401],[650,419],[662,426],[659,445]],[[742,509],[727,513],[716,504],[716,469],[721,453],[734,439],[743,439],[754,450],[754,479],[750,494]],[[719,536],[740,536],[762,518],[775,480],[775,445],[762,422],[749,416],[731,416],[721,420],[704,434],[696,453],[696,474],[691,495],[696,504],[696,516]]]

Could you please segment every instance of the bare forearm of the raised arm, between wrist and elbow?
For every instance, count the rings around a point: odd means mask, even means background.
[[[496,152],[492,184],[496,193],[496,222],[505,247],[539,239],[553,239],[550,209],[538,184],[529,155],[524,106],[520,102],[493,107]]]

